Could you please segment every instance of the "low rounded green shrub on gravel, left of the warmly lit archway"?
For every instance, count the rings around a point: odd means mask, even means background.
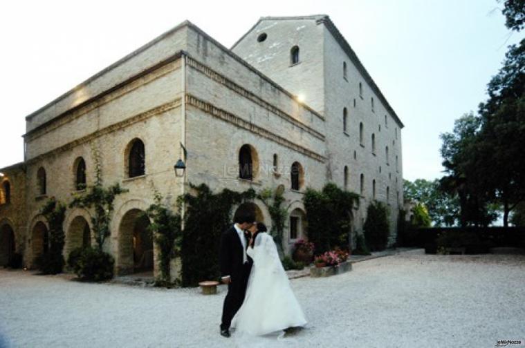
[[[71,251],[68,264],[76,275],[84,280],[98,282],[113,278],[113,256],[98,248],[75,249]]]

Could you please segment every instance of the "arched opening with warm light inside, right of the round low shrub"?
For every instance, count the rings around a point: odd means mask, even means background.
[[[122,214],[118,225],[116,273],[131,274],[154,270],[153,236],[147,231],[145,209],[131,208]]]

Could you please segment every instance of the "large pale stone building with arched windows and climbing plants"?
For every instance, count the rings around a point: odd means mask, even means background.
[[[392,244],[403,202],[401,128],[328,16],[261,18],[231,49],[185,21],[26,117],[24,162],[0,169],[0,262],[16,251],[31,267],[45,251],[39,210],[48,197],[71,202],[93,184],[93,148],[104,184],[127,189],[104,245],[120,274],[156,264],[140,214],[153,203],[152,184],[170,202],[190,182],[214,191],[282,185],[289,252],[304,236],[304,189],[335,182],[361,195],[356,233],[371,200],[389,205]],[[271,225],[264,204],[252,204]],[[66,211],[65,257],[93,242],[91,213]]]

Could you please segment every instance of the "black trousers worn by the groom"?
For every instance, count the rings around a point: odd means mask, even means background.
[[[221,330],[230,329],[235,313],[239,311],[239,308],[241,308],[241,305],[244,302],[251,268],[251,264],[243,264],[239,274],[232,277],[232,282],[228,284],[228,293],[226,294],[223,305]]]

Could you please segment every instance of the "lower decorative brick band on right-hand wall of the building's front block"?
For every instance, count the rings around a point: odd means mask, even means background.
[[[326,160],[324,156],[318,153],[315,153],[314,151],[311,151],[308,148],[305,148],[304,146],[295,144],[294,142],[291,142],[290,140],[284,137],[281,137],[280,135],[277,135],[273,132],[268,131],[267,129],[259,127],[253,124],[252,122],[248,122],[245,119],[242,119],[241,117],[237,115],[228,113],[228,111],[225,111],[221,108],[217,108],[216,106],[213,106],[212,104],[206,101],[203,101],[197,97],[194,97],[193,95],[190,95],[190,94],[186,95],[186,104],[199,108],[200,110],[203,110],[205,113],[208,113],[209,115],[217,117],[218,119],[221,119],[224,122],[233,124],[234,126],[238,128],[249,131],[250,133],[257,134],[261,137],[264,137],[273,142],[276,142],[277,144],[286,146],[287,148],[291,148],[293,151],[302,153],[303,155],[311,157],[318,162],[324,163]]]

